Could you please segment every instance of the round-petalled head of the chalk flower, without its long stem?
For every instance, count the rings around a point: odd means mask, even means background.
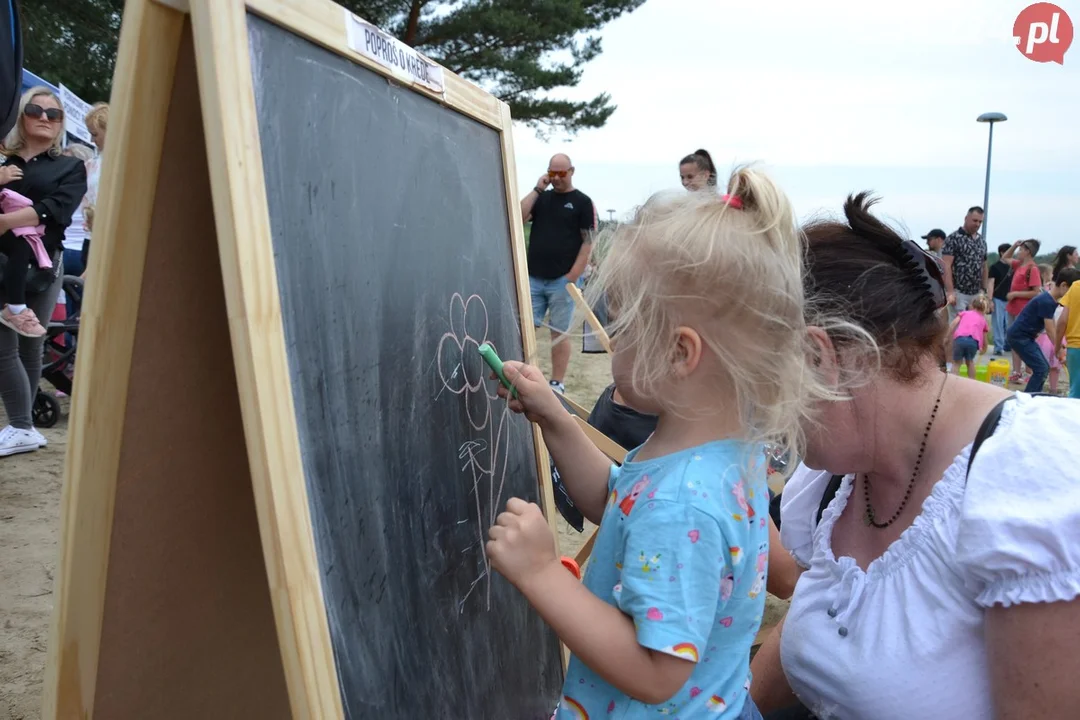
[[[498,398],[492,383],[487,383],[490,372],[480,347],[495,343],[487,337],[487,305],[478,295],[468,299],[455,293],[450,298],[450,331],[438,341],[438,377],[443,390],[464,395],[465,411],[473,430],[484,430],[491,421],[491,400]],[[440,390],[442,393],[443,390]]]

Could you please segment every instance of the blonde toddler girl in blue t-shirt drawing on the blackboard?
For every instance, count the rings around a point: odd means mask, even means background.
[[[656,430],[615,467],[539,369],[508,362],[511,409],[540,425],[575,505],[600,527],[580,583],[519,499],[487,554],[573,653],[558,720],[760,718],[747,688],[768,572],[764,447],[797,452],[822,396],[792,207],[741,168],[728,194],[653,196],[609,247],[590,293],[611,310],[616,386]]]

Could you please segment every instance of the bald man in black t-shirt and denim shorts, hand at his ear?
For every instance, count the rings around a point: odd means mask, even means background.
[[[575,189],[573,165],[566,155],[554,155],[548,163],[548,172],[522,199],[522,220],[528,222],[530,218],[528,268],[532,322],[540,327],[550,313],[551,384],[563,391],[570,364],[570,343],[559,340],[570,328],[573,316],[573,300],[566,284],[577,283],[585,271],[596,229],[593,201]]]

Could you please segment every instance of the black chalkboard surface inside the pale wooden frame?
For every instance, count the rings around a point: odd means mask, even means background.
[[[305,481],[347,718],[549,718],[556,636],[484,542],[538,501],[480,355],[523,340],[497,131],[248,15]]]

